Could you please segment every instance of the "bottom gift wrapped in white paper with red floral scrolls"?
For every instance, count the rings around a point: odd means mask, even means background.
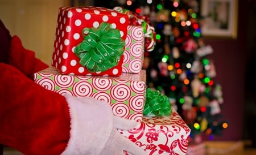
[[[174,108],[171,116],[144,116],[133,130],[118,131],[150,155],[186,154],[191,132]]]

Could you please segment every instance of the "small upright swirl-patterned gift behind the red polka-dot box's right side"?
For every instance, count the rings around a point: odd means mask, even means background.
[[[129,25],[123,53],[122,72],[139,73],[144,58],[144,33],[141,26]]]

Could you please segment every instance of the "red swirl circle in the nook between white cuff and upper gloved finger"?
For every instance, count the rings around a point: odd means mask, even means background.
[[[112,104],[111,106],[114,115],[122,118],[129,117],[130,108],[125,103],[117,102],[115,104]]]

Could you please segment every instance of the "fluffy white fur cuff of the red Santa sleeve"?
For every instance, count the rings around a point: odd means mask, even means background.
[[[110,106],[90,97],[64,97],[71,115],[71,137],[62,154],[100,154],[113,128]]]

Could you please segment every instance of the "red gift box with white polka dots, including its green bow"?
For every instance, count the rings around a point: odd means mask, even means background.
[[[60,7],[52,66],[67,75],[121,75],[128,25],[112,9]]]

